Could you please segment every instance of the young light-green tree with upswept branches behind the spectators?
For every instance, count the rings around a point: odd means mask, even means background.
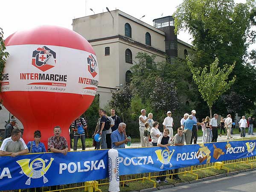
[[[202,98],[207,102],[210,117],[212,118],[212,105],[236,81],[236,76],[233,76],[232,80],[227,81],[236,62],[230,66],[226,64],[222,69],[218,67],[218,58],[210,64],[210,67],[205,66],[203,69],[201,67],[194,67],[188,57],[187,63],[193,75],[193,80],[198,85],[198,90]]]

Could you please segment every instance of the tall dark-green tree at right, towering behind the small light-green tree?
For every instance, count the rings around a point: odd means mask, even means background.
[[[243,108],[255,108],[255,67],[247,62],[255,61],[255,51],[247,48],[255,43],[256,0],[234,3],[234,0],[183,0],[174,13],[175,32],[188,30],[193,37],[195,49],[193,63],[204,67],[219,59],[222,64],[236,66],[230,74],[236,76],[236,86],[231,88],[243,99]],[[253,74],[254,73],[254,74]],[[250,91],[244,91],[250,87]],[[201,105],[201,104],[200,104]]]

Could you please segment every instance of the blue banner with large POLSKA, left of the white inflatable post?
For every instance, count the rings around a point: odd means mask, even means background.
[[[0,191],[108,177],[108,150],[0,157]]]

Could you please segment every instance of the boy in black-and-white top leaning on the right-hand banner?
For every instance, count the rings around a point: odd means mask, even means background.
[[[163,135],[161,135],[157,141],[157,146],[164,147],[168,151],[170,151],[168,146],[171,145],[171,138],[168,136],[169,134],[170,134],[169,129],[167,129],[167,128],[164,129]],[[166,180],[166,171],[161,171],[158,173],[158,175],[159,175],[159,177],[156,178],[157,183],[161,183],[161,181],[163,181],[164,183],[168,183],[168,181]],[[162,176],[162,175],[164,175],[164,176]]]

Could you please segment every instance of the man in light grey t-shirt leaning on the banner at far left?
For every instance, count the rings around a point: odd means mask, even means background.
[[[0,147],[0,156],[11,155],[11,157],[16,157],[17,155],[29,153],[26,143],[20,136],[20,130],[14,129],[12,131],[12,137],[3,140]]]

